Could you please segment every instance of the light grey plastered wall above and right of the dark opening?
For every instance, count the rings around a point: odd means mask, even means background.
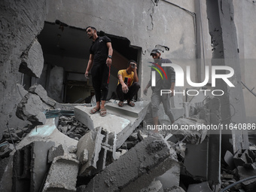
[[[184,70],[189,63],[192,81],[196,81],[194,1],[162,0],[156,5],[150,0],[75,0],[70,5],[68,0],[50,1],[47,21],[60,20],[81,29],[95,26],[108,34],[128,38],[133,46],[142,47],[140,91],[150,78],[148,61],[152,61],[150,53],[157,44],[169,47],[169,51],[162,54],[163,58],[175,59]]]

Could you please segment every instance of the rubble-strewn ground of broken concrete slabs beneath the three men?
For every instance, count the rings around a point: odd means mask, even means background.
[[[87,105],[75,107],[49,102],[40,86],[32,87],[24,98],[28,94],[41,99],[44,108],[41,112],[47,119],[43,125],[38,125],[35,118],[31,118],[32,123],[23,129],[10,127],[3,134],[0,142],[1,190],[215,191],[215,184],[208,181],[206,175],[193,174],[190,166],[194,162],[185,163],[190,160],[187,152],[195,153],[207,144],[207,130],[160,130],[154,133],[147,129],[151,123],[148,103],[138,102],[141,109],[126,115],[121,111],[117,116],[116,103],[111,101],[108,103],[109,113],[113,113],[108,114],[111,120],[122,118],[128,122],[115,132],[111,130],[114,127],[97,121],[100,117],[90,116]],[[207,106],[210,101],[206,99],[206,104],[195,105],[189,112],[190,117],[180,117],[174,125],[209,124]],[[49,103],[62,109],[56,110]],[[129,111],[129,106],[126,107]],[[17,111],[18,114],[37,116],[26,113],[30,108],[21,108],[23,112]],[[75,108],[80,111],[76,113]],[[143,108],[147,110],[143,111]],[[83,118],[84,123],[78,120]],[[226,152],[219,175],[222,188],[255,175],[255,151],[251,148],[236,154]],[[230,191],[254,191],[255,187],[256,178],[236,184]]]

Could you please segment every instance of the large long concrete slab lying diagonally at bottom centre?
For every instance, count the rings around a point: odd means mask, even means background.
[[[177,156],[160,135],[139,142],[91,179],[84,191],[137,191],[177,165]]]

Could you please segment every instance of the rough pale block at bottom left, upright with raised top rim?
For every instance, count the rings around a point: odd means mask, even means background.
[[[47,191],[76,191],[78,176],[78,160],[70,155],[55,157],[50,166],[44,183],[43,192]]]

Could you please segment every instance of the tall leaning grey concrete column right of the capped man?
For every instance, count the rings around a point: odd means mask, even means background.
[[[209,33],[212,36],[212,66],[229,66],[234,75],[228,78],[235,87],[229,87],[222,79],[216,80],[215,90],[223,90],[221,100],[221,123],[245,123],[245,103],[242,94],[241,69],[234,23],[233,1],[206,0],[207,16],[209,18]],[[225,74],[225,70],[220,71]],[[217,74],[220,74],[217,72]],[[227,72],[228,73],[228,72]],[[225,152],[233,137],[233,151],[248,148],[247,130],[238,133],[236,130],[224,130],[222,136],[222,150]],[[241,141],[241,142],[238,142]]]

